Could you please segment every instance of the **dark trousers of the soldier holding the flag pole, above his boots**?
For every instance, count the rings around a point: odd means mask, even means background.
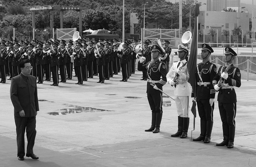
[[[198,99],[197,98],[197,109],[201,120],[213,122],[213,109],[214,102],[211,106],[209,103],[210,99]]]

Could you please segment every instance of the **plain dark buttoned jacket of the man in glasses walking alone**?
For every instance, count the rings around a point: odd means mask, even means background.
[[[10,95],[14,106],[14,116],[19,116],[19,111],[24,110],[25,117],[34,117],[39,111],[37,96],[37,79],[20,73],[12,78]]]

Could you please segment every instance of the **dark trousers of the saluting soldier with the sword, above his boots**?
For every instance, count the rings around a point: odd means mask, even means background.
[[[150,104],[150,109],[152,110],[152,112],[163,113],[162,93],[159,93],[159,94],[147,93],[147,100],[148,100],[148,103]]]

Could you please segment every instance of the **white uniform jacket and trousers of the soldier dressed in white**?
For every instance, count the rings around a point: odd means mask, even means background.
[[[180,63],[179,63],[180,62]],[[176,71],[182,66],[182,63],[186,63],[186,60],[178,61],[173,63],[170,71],[166,75],[167,82],[170,84],[170,81],[173,80],[172,75],[176,75]],[[179,66],[178,66],[179,65]],[[179,84],[176,85],[174,88],[174,99],[177,107],[177,112],[180,117],[189,118],[189,85],[188,85],[188,78],[189,73],[187,70],[187,64],[182,67],[181,69],[182,74],[178,77]]]

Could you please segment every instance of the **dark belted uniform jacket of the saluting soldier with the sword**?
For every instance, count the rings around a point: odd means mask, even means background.
[[[138,63],[138,71],[147,71],[148,77],[147,79],[153,80],[153,81],[159,81],[158,83],[155,83],[156,86],[160,89],[162,89],[162,86],[166,84],[166,74],[167,69],[164,62],[161,62],[159,60],[153,62],[149,61],[147,63]],[[162,77],[162,78],[161,78]],[[147,93],[151,94],[159,94],[161,93],[159,90],[156,90],[151,86],[152,82],[147,82]]]

